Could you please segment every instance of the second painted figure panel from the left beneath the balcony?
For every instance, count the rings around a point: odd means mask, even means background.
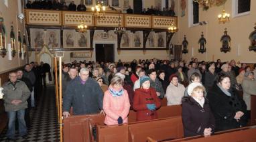
[[[60,29],[47,29],[46,46],[48,48],[60,48]]]

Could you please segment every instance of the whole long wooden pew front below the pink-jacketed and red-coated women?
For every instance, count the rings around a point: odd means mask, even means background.
[[[125,125],[97,125],[97,141],[147,141],[147,137],[155,139],[182,138],[182,117],[170,117],[153,121],[140,121]]]

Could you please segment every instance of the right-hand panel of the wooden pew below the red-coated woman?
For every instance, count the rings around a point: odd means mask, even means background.
[[[184,137],[182,117],[170,117],[168,119],[157,119],[155,121],[144,121],[140,123],[129,123],[129,141],[147,141],[147,137],[153,139],[179,139]]]

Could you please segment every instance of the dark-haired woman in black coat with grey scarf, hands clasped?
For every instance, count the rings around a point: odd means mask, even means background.
[[[218,74],[216,84],[208,92],[207,98],[216,120],[216,131],[225,131],[244,127],[246,104],[239,97],[237,90],[231,88],[231,79],[225,74]]]

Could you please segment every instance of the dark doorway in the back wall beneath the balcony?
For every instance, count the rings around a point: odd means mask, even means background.
[[[114,44],[96,44],[96,61],[114,62]]]

